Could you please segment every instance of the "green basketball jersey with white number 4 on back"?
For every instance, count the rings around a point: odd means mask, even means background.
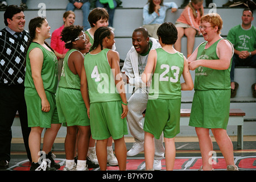
[[[95,55],[90,53],[85,55],[84,67],[90,103],[121,100],[115,88],[115,78],[107,58],[109,50],[105,48]]]

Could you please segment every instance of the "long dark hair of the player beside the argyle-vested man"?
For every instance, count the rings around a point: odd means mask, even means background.
[[[38,28],[38,27],[40,28],[45,20],[46,20],[46,18],[43,18],[40,16],[37,16],[30,20],[30,23],[28,24],[28,30],[30,31],[30,39],[28,39],[27,48],[26,48],[25,52],[27,52],[28,48],[30,47],[32,40],[35,39],[36,28]],[[49,47],[52,50],[52,52],[54,52],[54,50],[49,46],[49,44],[47,42],[44,41],[44,44],[46,44],[46,46]]]

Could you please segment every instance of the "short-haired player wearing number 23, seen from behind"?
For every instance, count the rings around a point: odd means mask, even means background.
[[[164,134],[166,144],[166,170],[174,168],[175,136],[180,131],[181,90],[192,90],[193,81],[188,62],[183,53],[177,52],[173,45],[177,40],[177,29],[172,23],[163,23],[157,31],[162,48],[152,49],[142,81],[152,82],[148,93],[147,111],[144,121],[144,152],[146,170],[153,169],[154,137]],[[180,84],[183,75],[184,83]]]

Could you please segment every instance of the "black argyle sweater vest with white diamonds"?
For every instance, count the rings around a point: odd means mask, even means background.
[[[0,84],[24,85],[26,47],[30,38],[27,31],[18,40],[6,28],[0,31]]]

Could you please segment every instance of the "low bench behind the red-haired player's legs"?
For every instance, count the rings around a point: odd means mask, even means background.
[[[180,109],[180,126],[188,126],[191,109]],[[229,126],[237,126],[237,148],[243,149],[243,117],[241,109],[230,109]]]

